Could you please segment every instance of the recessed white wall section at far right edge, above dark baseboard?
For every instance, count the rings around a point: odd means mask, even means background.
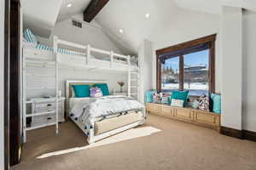
[[[243,116],[242,127],[256,132],[256,13],[243,11]]]

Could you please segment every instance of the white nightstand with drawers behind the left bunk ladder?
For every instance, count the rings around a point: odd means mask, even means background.
[[[32,101],[32,114],[49,112],[49,114],[42,116],[32,116],[31,127],[43,126],[44,124],[49,124],[55,122],[55,98],[33,98]],[[59,110],[58,119],[59,122],[65,122],[64,118],[64,102],[65,98],[59,98]]]

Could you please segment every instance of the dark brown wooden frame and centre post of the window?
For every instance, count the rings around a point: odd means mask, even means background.
[[[158,92],[161,92],[161,62],[160,62],[160,55],[163,54],[171,54],[177,51],[183,51],[188,48],[193,48],[195,46],[199,46],[201,44],[207,44],[209,49],[209,93],[215,93],[215,41],[216,35],[213,34],[207,37],[201,37],[189,42],[179,43],[177,45],[168,47],[168,48],[161,48],[156,50],[156,88]],[[193,51],[192,51],[193,50]],[[191,53],[197,52],[195,49],[192,49]],[[201,51],[201,50],[198,50]],[[183,54],[179,54],[179,90],[183,91],[183,84],[184,84],[184,57]],[[172,58],[173,56],[170,56]],[[177,56],[176,56],[177,57]]]

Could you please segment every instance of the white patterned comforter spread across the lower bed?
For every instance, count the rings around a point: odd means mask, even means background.
[[[70,111],[76,118],[83,122],[88,119],[109,116],[123,111],[142,110],[144,105],[137,100],[120,95],[103,96],[101,98],[71,99]]]

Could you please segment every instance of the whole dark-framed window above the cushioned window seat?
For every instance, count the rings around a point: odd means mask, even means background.
[[[157,50],[158,91],[189,90],[192,96],[214,93],[215,37]]]

